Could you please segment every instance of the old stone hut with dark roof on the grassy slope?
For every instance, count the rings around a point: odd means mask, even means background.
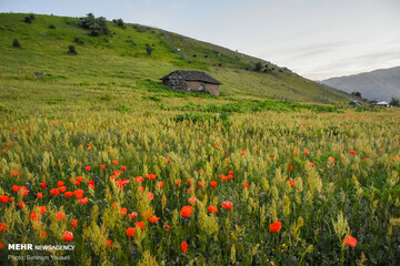
[[[219,95],[219,85],[222,84],[211,75],[194,70],[177,70],[161,78],[162,83],[173,91],[207,92]]]

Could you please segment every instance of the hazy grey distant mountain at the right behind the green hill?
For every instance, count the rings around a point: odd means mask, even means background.
[[[360,92],[368,100],[390,101],[400,99],[400,66],[331,78],[320,83],[348,93]]]

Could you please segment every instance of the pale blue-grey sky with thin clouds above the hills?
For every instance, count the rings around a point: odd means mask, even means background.
[[[0,0],[0,12],[121,18],[311,80],[400,65],[400,0]]]

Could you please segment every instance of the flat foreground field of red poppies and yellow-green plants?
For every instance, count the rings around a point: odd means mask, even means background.
[[[2,262],[49,255],[7,249],[31,243],[74,245],[58,265],[399,263],[398,110],[47,113],[1,120]]]

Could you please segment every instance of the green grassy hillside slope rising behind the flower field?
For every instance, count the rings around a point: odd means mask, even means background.
[[[29,14],[0,13],[3,109],[9,108],[10,99],[24,99],[33,105],[67,100],[97,105],[93,98],[117,99],[113,105],[129,109],[133,103],[152,108],[158,104],[160,109],[186,106],[193,102],[192,95],[172,93],[159,81],[177,69],[207,71],[223,83],[218,99],[193,95],[200,105],[216,100],[334,104],[351,98],[286,68],[160,29],[129,23],[122,29],[107,21],[111,33],[92,37],[79,25],[78,18],[34,14],[27,23],[26,17]],[[12,45],[14,39],[20,48]],[[74,45],[77,54],[68,53],[70,45]],[[254,71],[258,62],[262,65],[259,72]],[[268,71],[263,71],[266,65]],[[41,71],[43,76],[34,74]]]

